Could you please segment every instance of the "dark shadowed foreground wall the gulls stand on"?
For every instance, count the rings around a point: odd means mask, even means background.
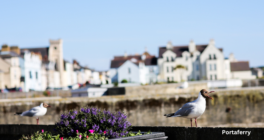
[[[0,125],[1,140],[19,139],[22,135],[31,135],[36,131],[53,131],[54,125]],[[258,140],[264,139],[264,128],[221,128],[221,127],[172,127],[172,126],[133,126],[130,131],[165,132],[167,140]],[[223,133],[228,131],[227,133]],[[231,131],[231,134],[229,133]],[[233,132],[232,132],[233,131]],[[236,133],[234,133],[236,131]],[[237,133],[250,131],[249,135]],[[232,134],[233,133],[233,134]]]

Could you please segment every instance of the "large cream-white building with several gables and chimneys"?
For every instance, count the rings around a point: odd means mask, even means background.
[[[158,68],[160,81],[217,80],[230,78],[230,61],[224,59],[223,50],[209,44],[159,48]]]

